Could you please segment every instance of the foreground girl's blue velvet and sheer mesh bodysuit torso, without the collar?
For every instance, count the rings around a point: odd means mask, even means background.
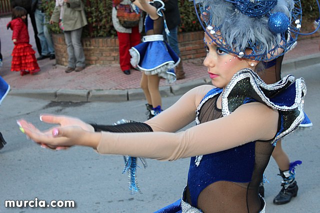
[[[220,92],[219,89],[212,89],[204,96],[198,107],[198,124],[222,117],[221,109],[216,106]],[[232,209],[258,212],[264,203],[257,190],[272,150],[270,140],[253,141],[203,155],[198,165],[195,163],[196,157],[191,157],[186,200],[204,212],[208,205],[215,206],[211,212],[231,212]],[[240,197],[246,197],[246,200]]]

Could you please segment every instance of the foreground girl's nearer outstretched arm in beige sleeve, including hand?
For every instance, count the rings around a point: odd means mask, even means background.
[[[275,136],[277,123],[276,110],[252,102],[239,106],[225,117],[177,133],[90,132],[79,126],[57,127],[51,132],[41,132],[27,123],[21,124],[32,140],[50,147],[85,145],[101,154],[175,160],[229,149],[254,140],[271,139]]]

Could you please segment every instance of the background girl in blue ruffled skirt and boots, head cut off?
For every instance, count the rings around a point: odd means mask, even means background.
[[[163,28],[168,31],[163,13],[164,3],[161,0],[135,0],[133,3],[147,13],[144,22],[146,35],[142,43],[129,51],[131,65],[142,71],[140,86],[147,100],[148,118],[151,118],[162,111],[160,77],[170,83],[174,82],[176,77],[173,67],[180,59],[163,39]]]

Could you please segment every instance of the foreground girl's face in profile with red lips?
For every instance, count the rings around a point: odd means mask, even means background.
[[[204,44],[207,53],[203,64],[207,67],[214,86],[224,88],[238,70],[250,67],[245,58],[223,51],[206,33]]]

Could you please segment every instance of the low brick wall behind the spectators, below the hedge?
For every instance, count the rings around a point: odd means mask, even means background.
[[[56,62],[67,65],[67,52],[63,34],[52,34]],[[182,59],[205,56],[203,31],[178,34]],[[119,63],[118,39],[109,37],[82,38],[86,64]]]

